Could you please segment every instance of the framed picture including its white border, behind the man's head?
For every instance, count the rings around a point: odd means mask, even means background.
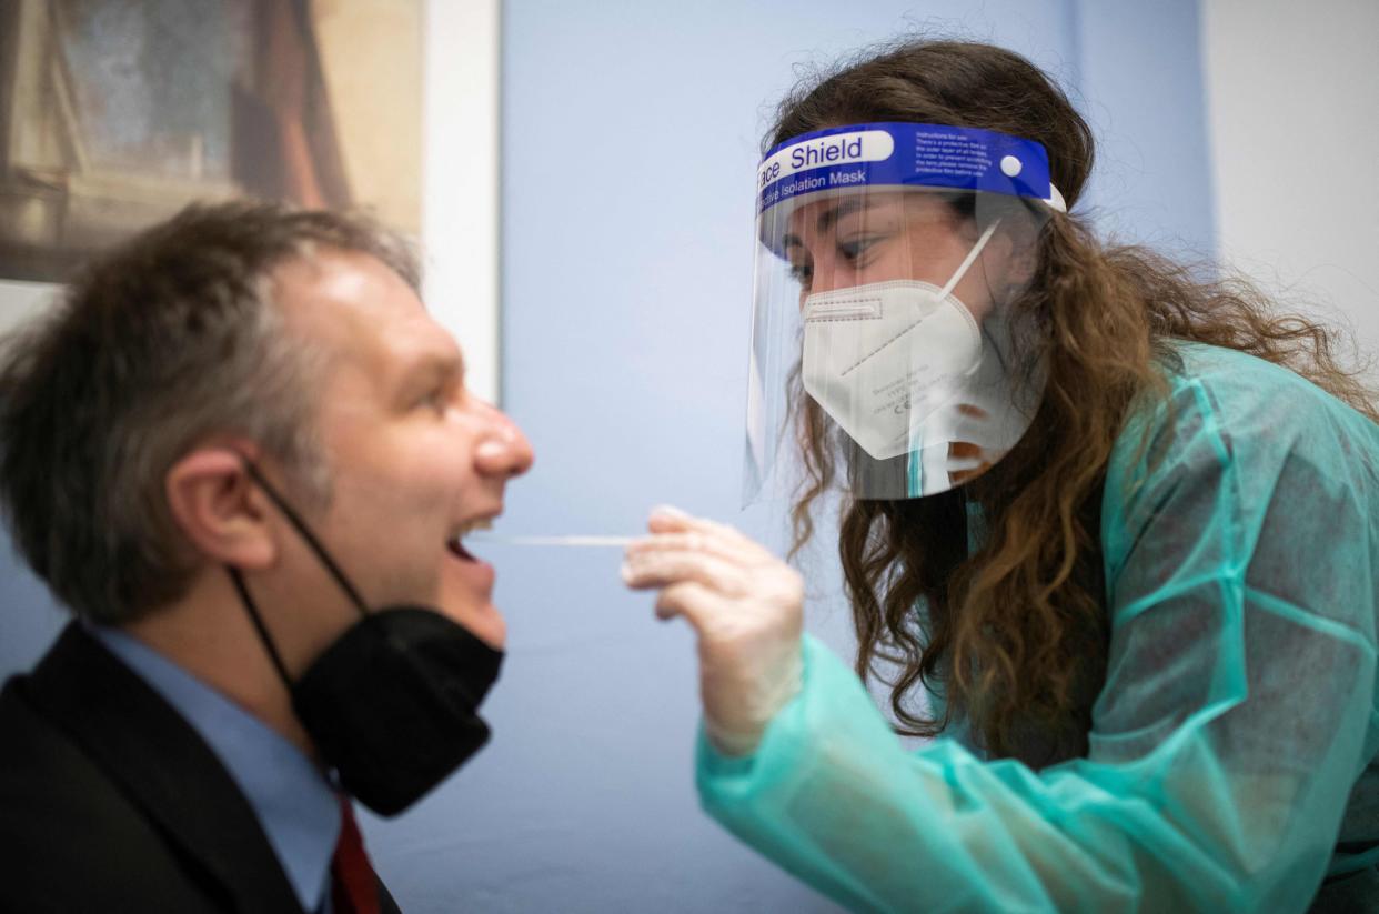
[[[0,4],[0,328],[193,200],[361,207],[422,238],[429,292],[465,277],[448,323],[492,397],[496,3]]]

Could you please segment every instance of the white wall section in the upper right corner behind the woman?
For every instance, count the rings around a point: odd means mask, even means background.
[[[1222,256],[1379,353],[1379,3],[1205,0]],[[1379,367],[1371,376],[1379,380]]]

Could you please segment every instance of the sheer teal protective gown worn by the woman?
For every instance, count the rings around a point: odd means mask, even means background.
[[[707,812],[859,911],[1298,911],[1373,867],[1379,426],[1282,368],[1178,352],[1171,411],[1107,469],[1085,758],[907,751],[807,637],[756,754],[701,736]]]

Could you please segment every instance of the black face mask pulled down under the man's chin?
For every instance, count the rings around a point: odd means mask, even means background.
[[[412,805],[488,740],[477,709],[498,678],[503,653],[439,609],[390,605],[370,611],[306,522],[245,467],[321,560],[360,619],[294,682],[273,647],[239,569],[228,568],[296,720],[341,786],[382,816]]]

